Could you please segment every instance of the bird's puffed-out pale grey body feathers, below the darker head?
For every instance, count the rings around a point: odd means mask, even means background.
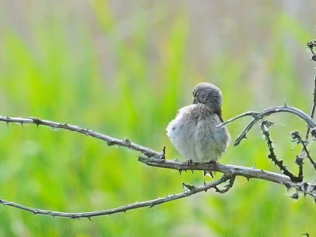
[[[167,126],[171,143],[186,159],[207,162],[217,160],[225,152],[229,133],[218,128],[220,119],[202,106],[192,105],[179,110]]]

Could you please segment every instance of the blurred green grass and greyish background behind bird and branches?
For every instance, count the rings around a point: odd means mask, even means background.
[[[283,105],[310,113],[316,1],[1,0],[0,114],[94,128],[181,158],[165,127],[212,82],[223,118]],[[233,139],[249,118],[228,125]],[[276,154],[297,172],[288,133],[302,120],[277,114]],[[312,154],[316,154],[313,145]],[[275,172],[256,125],[220,162]],[[117,207],[202,184],[201,172],[149,167],[139,153],[66,130],[0,123],[0,197],[66,212]],[[315,155],[314,155],[315,157]],[[315,180],[309,162],[305,176]],[[220,174],[216,174],[216,178]],[[69,220],[0,207],[0,236],[316,237],[316,204],[278,184],[237,178],[153,208]]]

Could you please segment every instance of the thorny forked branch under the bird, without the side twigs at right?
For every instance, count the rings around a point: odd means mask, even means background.
[[[3,200],[0,198],[0,203],[4,205],[9,205],[12,207],[16,207],[19,209],[23,209],[26,211],[30,211],[34,214],[42,214],[42,215],[50,215],[50,216],[59,216],[59,217],[68,217],[68,218],[90,218],[92,216],[99,216],[99,215],[107,215],[107,214],[113,214],[117,212],[125,212],[126,210],[134,209],[134,208],[139,208],[139,207],[144,207],[144,206],[154,206],[157,204],[161,204],[163,202],[175,200],[178,198],[182,197],[188,197],[193,194],[196,194],[201,191],[206,191],[210,188],[214,188],[217,192],[219,193],[224,193],[227,192],[233,185],[235,177],[236,176],[243,176],[247,178],[248,180],[250,178],[257,178],[257,179],[263,179],[275,183],[279,183],[282,185],[285,185],[287,188],[295,188],[298,192],[304,192],[305,194],[309,194],[310,196],[313,196],[314,198],[316,197],[316,186],[309,184],[309,183],[295,183],[292,182],[291,179],[288,176],[277,174],[274,172],[269,172],[265,171],[262,169],[256,169],[256,168],[248,168],[248,167],[243,167],[243,166],[237,166],[237,165],[229,165],[229,164],[220,164],[220,163],[198,163],[198,162],[193,162],[188,164],[187,162],[181,162],[179,160],[170,160],[170,159],[165,159],[165,147],[162,149],[162,153],[159,153],[155,150],[145,148],[143,146],[140,146],[135,143],[131,143],[128,139],[126,140],[119,140],[107,135],[104,135],[102,133],[96,132],[94,130],[89,130],[86,128],[82,128],[77,125],[71,125],[67,123],[59,123],[59,122],[54,122],[54,121],[49,121],[49,120],[44,120],[40,118],[12,118],[12,117],[2,117],[0,116],[0,121],[5,121],[7,123],[10,122],[17,122],[17,123],[33,123],[36,125],[46,125],[50,127],[58,127],[58,128],[63,128],[63,129],[68,129],[71,131],[83,133],[87,136],[92,136],[96,137],[101,140],[105,141],[110,141],[111,144],[108,145],[120,145],[120,146],[125,146],[129,149],[133,149],[136,151],[139,151],[146,155],[147,157],[139,157],[138,160],[141,162],[146,163],[147,165],[151,166],[157,166],[157,167],[163,167],[163,168],[172,168],[172,169],[178,169],[181,173],[183,170],[206,170],[206,171],[218,171],[224,173],[224,176],[219,179],[215,180],[211,183],[202,185],[198,188],[194,187],[189,189],[189,191],[186,191],[181,194],[176,194],[176,195],[167,195],[166,197],[163,198],[157,198],[153,200],[148,200],[148,201],[143,201],[143,202],[136,202],[133,204],[126,204],[117,208],[113,209],[108,209],[108,210],[101,210],[101,211],[92,211],[92,212],[82,212],[82,213],[69,213],[69,212],[58,212],[58,211],[50,211],[50,210],[41,210],[39,208],[32,208],[32,207],[27,207],[18,203],[14,202],[9,202],[6,200]],[[127,141],[127,142],[126,142]],[[217,188],[217,185],[230,180],[230,183],[228,186],[224,188],[224,190],[219,190]],[[189,185],[186,185],[185,187],[189,187]]]

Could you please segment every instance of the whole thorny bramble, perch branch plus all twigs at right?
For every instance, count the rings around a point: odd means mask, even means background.
[[[316,61],[316,54],[313,50],[313,48],[316,46],[316,40],[308,42],[307,46],[310,48],[313,54],[312,60]],[[308,125],[306,139],[308,139],[310,130],[312,130],[311,133],[312,133],[313,138],[316,138],[316,123],[313,120],[315,109],[316,109],[316,77],[315,77],[315,87],[314,87],[314,104],[312,107],[311,116],[308,116],[303,111],[297,108],[284,105],[284,106],[268,108],[266,110],[263,110],[262,112],[253,112],[253,111],[246,112],[246,113],[238,115],[237,117],[231,118],[219,124],[218,126],[222,126],[224,124],[230,123],[236,120],[237,118],[242,118],[245,116],[253,117],[253,119],[248,123],[245,129],[237,137],[234,143],[234,145],[236,146],[240,143],[242,139],[246,138],[247,132],[258,120],[261,120],[267,116],[270,116],[271,114],[275,114],[279,112],[287,112],[287,113],[297,115],[306,121]],[[279,183],[281,185],[284,185],[287,189],[290,189],[290,188],[296,189],[296,193],[292,196],[293,198],[298,198],[299,194],[303,193],[304,196],[309,195],[309,196],[314,197],[316,201],[316,184],[310,184],[310,183],[302,181],[303,180],[303,158],[301,156],[297,156],[296,161],[295,161],[299,165],[298,176],[294,176],[285,167],[285,165],[283,165],[282,160],[278,160],[276,158],[276,155],[274,153],[273,142],[270,139],[269,126],[272,125],[272,122],[268,120],[263,120],[261,122],[261,129],[263,131],[263,134],[265,135],[268,148],[270,151],[270,155],[268,157],[271,158],[275,162],[276,165],[278,165],[278,167],[283,171],[285,175],[270,172],[270,171],[265,171],[263,169],[257,169],[255,167],[249,168],[249,167],[244,167],[244,166],[220,164],[220,163],[214,163],[214,162],[210,162],[210,163],[192,162],[188,164],[187,162],[181,162],[177,159],[174,159],[174,160],[165,159],[165,146],[163,146],[162,152],[160,153],[150,148],[146,148],[141,145],[132,143],[127,138],[124,140],[120,140],[120,139],[113,138],[108,135],[96,132],[94,130],[86,129],[77,125],[67,124],[67,122],[60,123],[60,122],[54,122],[50,120],[44,120],[41,118],[13,118],[13,117],[3,117],[3,116],[0,116],[0,121],[5,121],[7,124],[9,124],[10,122],[16,122],[16,123],[20,123],[22,126],[24,123],[33,123],[33,124],[36,124],[38,127],[39,125],[46,125],[53,128],[57,127],[57,128],[79,132],[79,133],[85,134],[86,136],[96,137],[98,139],[106,141],[109,146],[112,146],[112,145],[124,146],[129,149],[141,152],[146,157],[139,157],[138,160],[147,165],[161,167],[161,168],[177,169],[179,170],[180,174],[181,174],[181,171],[183,170],[205,170],[205,171],[218,171],[218,172],[224,173],[224,175],[220,179],[214,180],[208,184],[204,184],[199,187],[182,183],[183,193],[166,195],[166,197],[158,197],[152,200],[135,202],[132,204],[126,204],[120,207],[107,209],[107,210],[100,210],[100,211],[70,213],[70,212],[42,210],[39,208],[32,208],[32,207],[24,206],[18,203],[9,202],[0,198],[0,203],[2,203],[3,205],[8,205],[15,208],[23,209],[23,210],[32,212],[33,214],[67,217],[67,218],[72,218],[72,219],[79,219],[83,217],[90,219],[93,216],[110,215],[110,214],[118,213],[118,212],[126,212],[127,210],[130,210],[130,209],[135,209],[135,208],[140,208],[140,207],[145,207],[145,206],[153,207],[155,205],[158,205],[167,201],[172,201],[179,198],[188,197],[202,191],[206,192],[208,189],[211,189],[211,188],[214,188],[215,191],[218,193],[221,193],[221,194],[226,193],[233,187],[236,176],[245,177],[247,178],[248,181],[250,178],[256,178],[256,179],[267,180],[274,183]],[[291,135],[292,135],[292,138],[295,141],[297,141],[297,143],[302,144],[303,151],[306,153],[307,157],[309,158],[309,160],[311,161],[311,163],[314,165],[316,169],[316,163],[311,158],[308,152],[308,149],[306,147],[307,143],[306,141],[302,140],[301,134],[299,132],[292,132]],[[220,190],[217,186],[226,182],[227,180],[229,180],[229,184],[226,185],[223,190]],[[187,191],[185,191],[185,188],[187,188]]]

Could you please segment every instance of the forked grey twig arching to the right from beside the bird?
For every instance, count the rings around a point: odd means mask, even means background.
[[[246,112],[246,113],[242,113],[242,114],[240,114],[240,115],[238,115],[238,116],[236,116],[234,118],[230,118],[230,119],[226,120],[225,122],[222,122],[221,124],[219,124],[217,126],[218,127],[223,126],[224,124],[230,123],[230,122],[236,120],[237,118],[242,118],[242,117],[245,117],[245,116],[252,116],[253,120],[246,126],[246,128],[241,132],[241,134],[235,140],[234,146],[237,146],[242,139],[246,138],[247,132],[251,129],[251,127],[258,120],[260,120],[260,119],[262,119],[264,117],[270,116],[272,114],[279,113],[279,112],[286,112],[286,113],[291,113],[291,114],[297,115],[300,118],[302,118],[303,120],[305,120],[310,128],[315,128],[316,127],[316,122],[310,116],[305,114],[300,109],[297,109],[295,107],[290,107],[290,106],[287,106],[287,105],[268,108],[268,109],[263,110],[262,112],[249,111],[249,112]],[[312,135],[315,135],[315,130],[312,130]]]

